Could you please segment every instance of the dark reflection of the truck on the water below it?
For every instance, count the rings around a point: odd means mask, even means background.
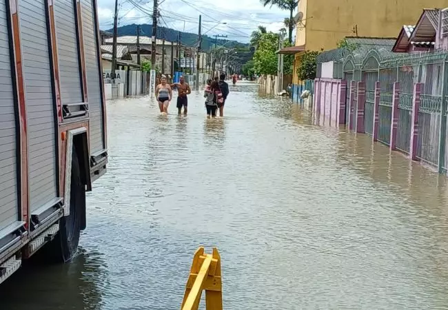
[[[79,249],[65,265],[34,258],[0,287],[2,310],[99,310],[108,287],[108,266],[101,254]]]

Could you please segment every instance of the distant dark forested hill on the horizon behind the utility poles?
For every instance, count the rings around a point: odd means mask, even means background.
[[[152,36],[152,25],[148,25],[147,23],[140,25],[141,26],[141,35],[145,37],[151,37]],[[106,30],[107,32],[112,33],[113,29]],[[137,25],[123,25],[118,28],[119,36],[135,36],[137,34]],[[158,39],[165,39],[166,41],[172,41],[176,42],[177,38],[179,36],[179,31],[165,28],[165,27],[158,27],[157,28],[157,38]],[[183,45],[192,46],[196,44],[198,41],[198,35],[194,33],[188,33],[188,32],[181,32],[181,43]],[[209,37],[207,35],[203,36],[202,50],[209,50],[210,47],[214,46],[214,37]],[[229,42],[230,41],[230,42]],[[229,43],[227,43],[229,42]],[[225,44],[227,43],[227,44]],[[227,48],[235,48],[235,47],[248,47],[248,44],[240,43],[237,41],[231,41],[231,40],[225,40],[225,39],[219,39],[218,38],[218,45],[223,45]]]

